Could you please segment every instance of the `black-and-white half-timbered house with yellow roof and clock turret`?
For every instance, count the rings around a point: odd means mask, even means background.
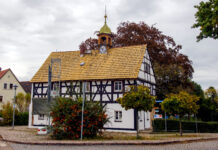
[[[106,19],[106,18],[105,18]],[[136,131],[136,111],[125,110],[116,102],[130,85],[145,85],[155,95],[155,77],[146,45],[113,48],[112,34],[106,24],[98,34],[96,50],[52,52],[32,78],[32,100],[29,127],[48,124],[40,101],[47,98],[48,67],[53,64],[52,89],[60,89],[62,97],[82,96],[82,84],[86,83],[85,96],[89,101],[100,101],[105,107],[110,123],[108,130]],[[58,70],[59,68],[59,70]],[[58,75],[60,75],[58,77]],[[139,112],[139,129],[151,128],[151,113]]]

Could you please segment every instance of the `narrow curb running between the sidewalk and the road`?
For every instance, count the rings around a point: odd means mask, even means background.
[[[192,142],[203,141],[218,141],[218,138],[203,138],[203,139],[190,139],[190,140],[175,140],[175,141],[159,141],[159,142],[147,142],[147,141],[75,141],[75,142],[23,142],[15,140],[7,140],[0,136],[1,141],[26,144],[26,145],[75,145],[75,146],[87,146],[87,145],[167,145],[167,144],[182,144]]]

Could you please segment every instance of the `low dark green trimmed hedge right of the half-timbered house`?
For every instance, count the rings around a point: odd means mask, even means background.
[[[153,132],[165,131],[165,120],[155,119],[152,122]],[[218,122],[197,122],[198,132],[200,133],[218,133]],[[196,132],[195,121],[182,121],[182,130],[184,132]],[[179,120],[167,119],[167,131],[179,131]]]

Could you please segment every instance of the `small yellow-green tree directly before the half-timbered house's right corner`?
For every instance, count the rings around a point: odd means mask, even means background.
[[[150,94],[150,89],[146,86],[130,86],[130,90],[123,97],[116,101],[121,104],[125,110],[136,110],[136,131],[138,138],[138,111],[152,111],[155,103],[155,96]]]

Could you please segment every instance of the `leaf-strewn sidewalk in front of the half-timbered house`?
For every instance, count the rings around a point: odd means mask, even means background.
[[[29,129],[27,126],[16,126],[14,130],[11,127],[0,127],[0,136],[2,141],[34,144],[34,145],[164,145],[175,143],[187,143],[196,141],[216,140],[218,142],[218,133],[191,133],[180,137],[178,134],[149,134],[141,133],[143,140],[131,140],[135,137],[133,133],[105,133],[112,137],[108,140],[54,140],[50,136],[36,134],[37,129]],[[116,140],[116,137],[130,137],[130,140]],[[114,137],[113,137],[114,136]]]

